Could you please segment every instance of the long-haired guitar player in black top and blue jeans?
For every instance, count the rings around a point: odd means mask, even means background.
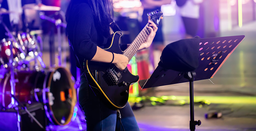
[[[120,70],[128,64],[129,58],[125,55],[104,50],[109,47],[107,41],[111,40],[111,34],[118,31],[118,26],[112,20],[113,7],[110,3],[109,0],[71,0],[66,11],[68,38],[78,59],[77,66],[83,71],[86,70],[86,61],[112,63]],[[158,28],[149,21],[147,29],[150,30],[149,34],[138,47],[139,50],[151,45]],[[80,80],[78,101],[86,116],[87,131],[118,131],[120,128],[139,131],[128,102],[118,110],[110,109],[95,95],[84,73]],[[117,117],[119,111],[121,123]]]

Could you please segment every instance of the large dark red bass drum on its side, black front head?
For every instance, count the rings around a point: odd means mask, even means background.
[[[15,74],[15,84],[15,96],[20,102],[43,102],[51,123],[69,124],[76,104],[76,90],[71,73],[65,68],[58,67],[47,73],[19,71]],[[0,104],[5,108],[11,107],[10,94],[10,73],[7,73],[0,79]]]

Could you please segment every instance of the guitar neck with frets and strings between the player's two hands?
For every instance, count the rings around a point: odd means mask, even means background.
[[[145,42],[146,38],[149,36],[149,33],[151,32],[151,30],[147,28],[148,25],[149,25],[149,23],[141,30],[141,32],[134,39],[134,41],[130,44],[130,46],[127,47],[127,49],[123,52],[122,55],[125,55],[126,57],[128,57],[129,61],[132,59],[132,57],[138,51],[138,48],[141,46],[141,44],[143,42]]]

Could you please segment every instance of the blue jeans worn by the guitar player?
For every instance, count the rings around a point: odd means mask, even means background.
[[[129,105],[119,109],[122,116],[122,125],[117,118],[115,110],[108,109],[103,102],[96,97],[84,74],[81,75],[78,102],[84,110],[87,131],[139,131],[134,113]],[[121,127],[120,127],[121,126]]]

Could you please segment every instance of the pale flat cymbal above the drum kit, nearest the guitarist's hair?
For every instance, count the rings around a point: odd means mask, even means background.
[[[23,9],[31,9],[31,10],[37,10],[37,11],[60,11],[61,7],[56,6],[47,6],[44,4],[25,4],[23,6]]]

